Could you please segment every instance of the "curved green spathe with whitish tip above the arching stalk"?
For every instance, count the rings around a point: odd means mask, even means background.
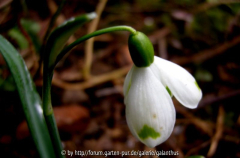
[[[48,38],[46,49],[44,51],[44,64],[47,64],[48,68],[53,69],[56,58],[63,49],[68,38],[85,22],[88,22],[95,17],[95,13],[85,14],[71,18],[57,27]]]

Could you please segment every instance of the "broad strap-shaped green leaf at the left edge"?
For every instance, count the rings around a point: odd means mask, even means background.
[[[55,157],[50,135],[42,113],[42,103],[22,57],[1,35],[0,52],[6,60],[16,82],[26,120],[40,156],[42,158]]]

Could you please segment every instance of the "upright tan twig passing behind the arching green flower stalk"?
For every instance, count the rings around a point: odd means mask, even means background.
[[[92,33],[97,29],[98,22],[100,20],[102,11],[107,3],[107,0],[100,0],[99,4],[97,5],[96,13],[97,13],[97,18],[95,18],[88,29],[88,33]],[[88,79],[90,77],[90,69],[92,65],[92,57],[93,57],[93,43],[94,43],[94,38],[89,39],[86,41],[85,45],[85,64],[83,67],[83,78]]]

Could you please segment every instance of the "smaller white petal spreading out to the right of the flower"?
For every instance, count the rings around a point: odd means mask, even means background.
[[[176,99],[188,108],[196,108],[202,98],[202,91],[194,77],[179,65],[159,57],[154,57],[154,67],[160,70],[158,77],[162,83],[169,87]],[[152,68],[156,72],[156,68]]]

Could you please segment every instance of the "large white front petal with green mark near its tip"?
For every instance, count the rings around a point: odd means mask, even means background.
[[[125,96],[128,126],[142,143],[155,147],[171,135],[175,108],[165,87],[149,67],[134,66],[131,81]]]

